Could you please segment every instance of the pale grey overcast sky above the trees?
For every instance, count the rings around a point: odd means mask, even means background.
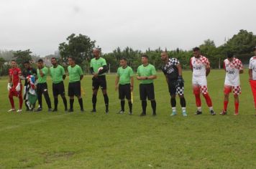
[[[31,49],[41,57],[70,34],[116,47],[191,49],[217,46],[239,29],[256,34],[253,0],[1,0],[0,49]]]

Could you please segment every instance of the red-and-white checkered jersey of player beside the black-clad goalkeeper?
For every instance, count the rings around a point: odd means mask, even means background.
[[[200,55],[199,58],[191,57],[191,69],[193,69],[193,77],[206,76],[206,68],[210,67],[209,59]]]

